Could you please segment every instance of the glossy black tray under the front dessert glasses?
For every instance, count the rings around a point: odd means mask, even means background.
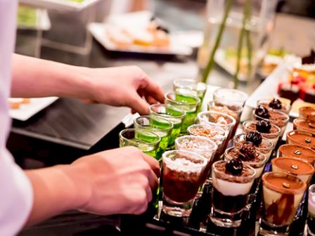
[[[276,150],[264,168],[264,172],[271,171],[271,159],[276,157]],[[122,216],[121,230],[123,235],[211,235],[211,236],[254,236],[259,231],[259,216],[261,209],[262,181],[259,179],[251,190],[255,199],[250,209],[243,212],[243,220],[238,228],[221,228],[214,225],[210,218],[212,186],[204,188],[202,197],[195,200],[193,211],[189,218],[167,216],[162,212],[162,204],[156,209],[149,204],[148,211],[141,216]],[[307,193],[305,194],[307,196]],[[162,199],[162,196],[160,196]],[[298,217],[293,221],[290,236],[304,235],[304,226],[307,218],[307,200],[300,204]]]

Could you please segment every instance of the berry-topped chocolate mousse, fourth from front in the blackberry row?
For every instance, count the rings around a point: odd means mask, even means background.
[[[269,121],[261,119],[259,121],[246,121],[243,123],[243,131],[245,133],[258,131],[263,138],[271,140],[274,147],[278,143],[281,129]]]

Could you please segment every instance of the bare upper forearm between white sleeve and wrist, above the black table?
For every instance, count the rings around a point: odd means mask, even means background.
[[[12,97],[84,98],[90,91],[88,68],[18,54],[13,55],[12,65]]]

